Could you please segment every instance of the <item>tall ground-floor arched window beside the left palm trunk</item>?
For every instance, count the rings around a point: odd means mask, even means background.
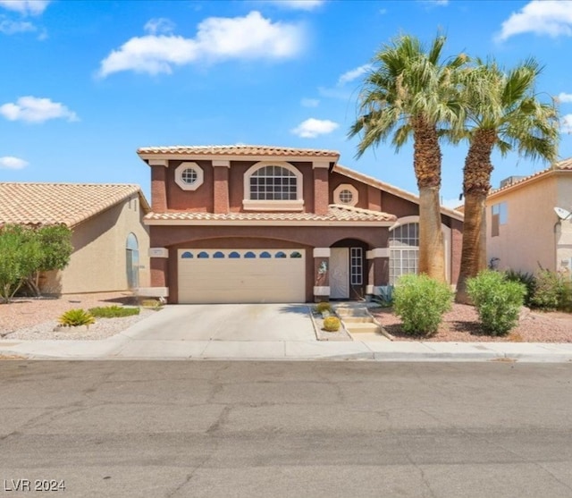
[[[416,274],[419,262],[419,224],[408,223],[390,232],[390,284],[402,274]]]

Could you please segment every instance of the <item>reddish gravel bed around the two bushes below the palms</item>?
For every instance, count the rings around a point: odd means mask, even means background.
[[[431,337],[411,336],[401,330],[399,317],[391,308],[370,308],[385,330],[398,341],[433,342],[572,342],[572,314],[530,311],[521,313],[517,327],[502,337],[487,335],[481,329],[476,309],[466,304],[453,304],[443,316],[437,333]]]

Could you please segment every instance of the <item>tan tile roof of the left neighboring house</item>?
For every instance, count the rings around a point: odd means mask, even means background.
[[[0,182],[0,224],[74,226],[135,193],[150,211],[139,185]]]

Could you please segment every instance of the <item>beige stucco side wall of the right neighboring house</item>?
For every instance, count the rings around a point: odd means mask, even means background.
[[[561,179],[560,179],[561,180]],[[554,271],[554,207],[559,205],[557,177],[545,176],[537,181],[500,192],[487,199],[487,259],[498,257],[497,268],[535,273],[540,266]],[[501,224],[500,234],[491,236],[491,207],[507,203],[508,222]]]

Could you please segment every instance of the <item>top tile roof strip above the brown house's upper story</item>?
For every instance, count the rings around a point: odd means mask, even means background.
[[[209,146],[172,146],[172,147],[143,147],[137,150],[143,155],[209,155],[209,156],[300,156],[300,157],[331,157],[338,159],[340,153],[336,150],[321,148],[288,148],[261,145],[209,145]]]

